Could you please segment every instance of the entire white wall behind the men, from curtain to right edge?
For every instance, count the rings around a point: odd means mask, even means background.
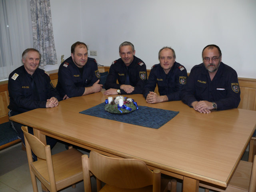
[[[188,72],[202,62],[207,44],[222,50],[222,62],[239,77],[256,78],[255,0],[50,0],[58,62],[77,40],[97,50],[99,64],[118,59],[118,46],[134,44],[148,69],[158,50],[171,46]],[[92,56],[93,57],[93,56]]]

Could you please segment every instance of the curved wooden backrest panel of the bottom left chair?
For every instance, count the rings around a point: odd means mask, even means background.
[[[24,138],[28,142],[28,145],[26,144],[26,147],[31,148],[34,154],[40,159],[46,160],[45,145],[34,135],[28,133],[28,127],[22,126],[21,129],[24,133]]]

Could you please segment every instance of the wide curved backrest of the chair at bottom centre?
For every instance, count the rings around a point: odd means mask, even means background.
[[[153,185],[153,192],[160,191],[160,170],[151,171],[142,160],[112,158],[91,151],[89,158],[82,156],[82,163],[87,176],[90,171],[97,179],[110,186],[135,189]]]

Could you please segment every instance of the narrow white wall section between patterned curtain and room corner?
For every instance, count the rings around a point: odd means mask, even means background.
[[[71,56],[71,45],[82,41],[82,20],[80,0],[50,0],[52,27],[58,65],[45,66],[46,71],[58,69],[61,56]]]

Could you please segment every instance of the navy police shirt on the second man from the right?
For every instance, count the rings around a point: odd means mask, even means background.
[[[143,95],[146,98],[150,91],[154,92],[156,84],[160,96],[166,95],[168,101],[180,100],[180,92],[186,84],[188,73],[181,64],[174,62],[172,68],[165,74],[160,64],[152,66]]]

